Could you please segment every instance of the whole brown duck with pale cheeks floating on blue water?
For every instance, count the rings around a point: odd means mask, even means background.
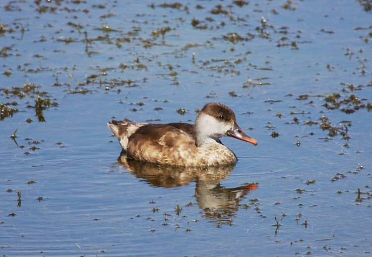
[[[107,125],[127,158],[156,164],[204,167],[235,163],[237,156],[220,141],[224,136],[257,145],[238,126],[233,110],[214,102],[202,108],[194,125],[136,123],[126,118]]]

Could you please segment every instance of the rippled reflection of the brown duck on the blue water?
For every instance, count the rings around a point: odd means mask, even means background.
[[[118,161],[131,174],[154,187],[175,188],[195,182],[195,198],[203,217],[216,222],[216,226],[231,225],[240,200],[258,187],[254,183],[236,188],[221,186],[221,180],[230,175],[235,163],[217,167],[167,166],[129,159],[123,152]]]

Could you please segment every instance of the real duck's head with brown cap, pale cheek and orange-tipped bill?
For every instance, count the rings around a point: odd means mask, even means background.
[[[223,136],[257,145],[257,141],[238,126],[233,110],[220,103],[209,103],[203,107],[196,117],[194,130],[197,146],[219,142]]]

